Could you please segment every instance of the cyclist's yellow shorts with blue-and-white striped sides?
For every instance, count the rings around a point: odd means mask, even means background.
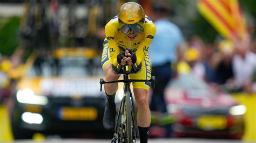
[[[102,61],[101,61],[102,69],[104,69],[104,67],[109,64],[112,64],[110,54],[109,54],[109,43],[107,42],[107,40],[104,40]],[[136,80],[151,79],[151,63],[148,55],[145,56],[145,59],[142,62],[142,70],[137,74],[130,74],[129,78],[136,79]],[[133,85],[133,88],[141,88],[141,89],[149,90],[151,84],[150,82],[133,82],[132,85]]]

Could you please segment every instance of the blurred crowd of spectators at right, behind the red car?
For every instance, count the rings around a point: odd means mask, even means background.
[[[219,90],[226,92],[256,92],[256,39],[250,35],[235,40],[204,43],[194,35],[187,41],[178,70],[192,73]]]

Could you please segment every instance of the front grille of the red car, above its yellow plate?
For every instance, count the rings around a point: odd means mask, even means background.
[[[214,108],[202,108],[199,106],[189,106],[182,108],[182,111],[187,115],[199,116],[199,115],[228,115],[229,108],[214,107]]]

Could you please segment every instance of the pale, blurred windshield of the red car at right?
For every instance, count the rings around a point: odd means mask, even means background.
[[[192,74],[180,74],[176,80],[171,82],[172,88],[182,89],[190,98],[214,97],[215,94],[209,90],[207,83]]]

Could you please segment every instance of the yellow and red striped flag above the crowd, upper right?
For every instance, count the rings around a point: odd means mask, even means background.
[[[247,33],[237,0],[198,0],[197,8],[224,38],[242,38]]]

